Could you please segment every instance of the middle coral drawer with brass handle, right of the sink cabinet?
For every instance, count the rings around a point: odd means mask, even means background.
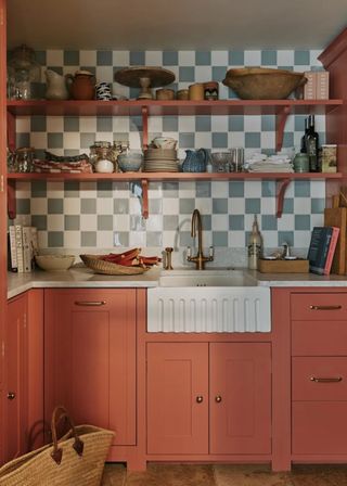
[[[347,358],[293,358],[293,400],[347,400]]]

